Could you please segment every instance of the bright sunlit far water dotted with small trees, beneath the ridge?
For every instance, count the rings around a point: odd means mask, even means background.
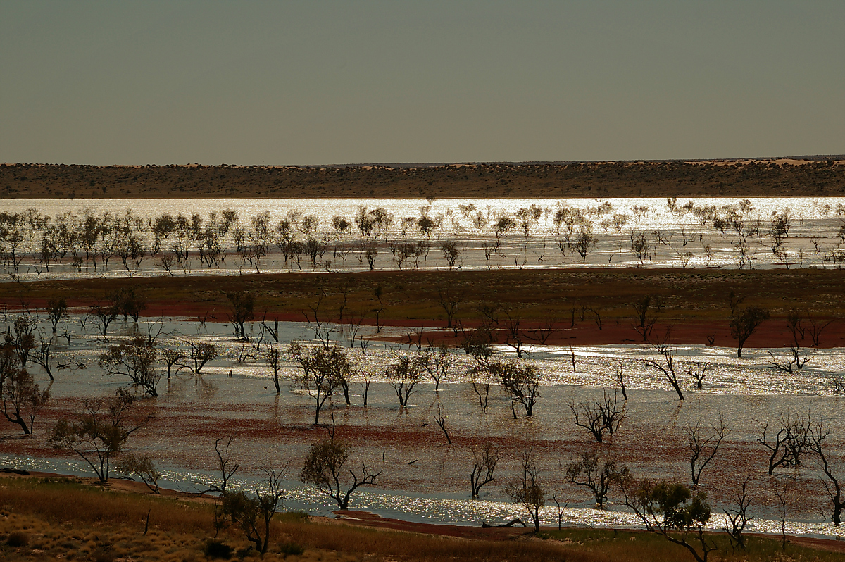
[[[356,227],[355,217],[362,209],[365,216],[384,209],[384,221],[365,234]],[[8,213],[36,209],[57,217],[70,213],[68,223],[78,223],[85,210],[95,215],[108,212],[124,217],[128,209],[147,218],[168,213],[182,214],[190,220],[198,214],[203,225],[221,221],[223,210],[237,211],[238,220],[219,239],[222,259],[204,266],[197,256],[201,241],[179,239],[171,234],[162,240],[161,253],[147,254],[140,264],[124,265],[112,258],[109,265],[85,261],[71,265],[70,254],[62,263],[45,268],[39,261],[41,232],[24,229],[20,249],[26,254],[18,270],[19,278],[67,278],[75,276],[168,275],[161,265],[161,255],[183,248],[190,253],[184,262],[169,269],[171,275],[227,274],[248,271],[355,271],[369,270],[365,244],[373,243],[373,267],[379,270],[500,269],[558,267],[838,267],[845,258],[840,251],[845,243],[845,199],[843,198],[693,198],[669,202],[668,199],[10,199],[0,203]],[[521,213],[521,210],[524,210]],[[532,214],[533,210],[533,214]],[[563,215],[559,211],[563,210]],[[573,214],[575,211],[575,215]],[[243,240],[250,240],[253,217],[267,212],[270,250],[258,258],[248,256],[250,243],[238,244],[237,228]],[[313,216],[316,221],[306,221]],[[425,230],[420,219],[431,220]],[[577,221],[566,217],[579,216]],[[340,232],[334,218],[344,219],[349,228]],[[513,221],[497,232],[503,217]],[[558,220],[556,220],[558,217]],[[786,222],[786,232],[776,228],[778,218]],[[292,239],[319,241],[324,249],[319,256],[285,256],[273,239],[279,222],[292,226]],[[403,222],[404,220],[404,222]],[[574,220],[574,219],[573,219]],[[720,228],[714,220],[727,221]],[[569,226],[567,226],[569,225]],[[579,253],[575,239],[584,228],[591,232],[586,252]],[[779,232],[779,233],[777,233]],[[147,226],[137,232],[147,250],[152,234]],[[0,241],[3,242],[3,241]],[[4,242],[5,243],[5,242]],[[410,255],[401,251],[402,243],[413,243]],[[441,246],[455,243],[454,263]],[[5,243],[8,252],[8,243]],[[115,251],[120,241],[103,234],[101,253]],[[241,251],[238,251],[238,246]],[[427,249],[428,248],[428,249]],[[87,255],[81,247],[76,254]],[[14,268],[7,267],[13,272]]]

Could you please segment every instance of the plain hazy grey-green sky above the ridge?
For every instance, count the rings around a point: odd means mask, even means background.
[[[843,153],[841,0],[0,0],[0,161]]]

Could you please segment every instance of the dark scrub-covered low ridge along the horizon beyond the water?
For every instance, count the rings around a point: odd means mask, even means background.
[[[0,197],[718,197],[845,195],[845,162],[420,166],[0,164]]]

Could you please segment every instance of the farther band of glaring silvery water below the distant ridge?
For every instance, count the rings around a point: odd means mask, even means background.
[[[221,246],[226,259],[220,265],[210,269],[203,268],[199,259],[194,257],[181,267],[174,266],[172,272],[177,275],[198,273],[232,274],[242,271],[288,271],[288,270],[326,270],[354,271],[368,270],[363,249],[359,243],[373,241],[365,237],[354,226],[354,216],[359,207],[372,210],[382,207],[392,217],[391,226],[376,237],[379,241],[379,255],[375,267],[379,270],[395,269],[446,269],[449,265],[440,250],[441,243],[458,243],[460,257],[455,267],[465,269],[487,268],[552,268],[552,267],[738,267],[740,259],[743,267],[841,267],[836,256],[841,246],[839,229],[845,217],[845,199],[843,198],[752,198],[745,199],[747,204],[740,205],[740,199],[731,198],[695,198],[683,199],[670,209],[667,199],[657,198],[617,198],[617,199],[436,199],[430,204],[426,199],[92,199],[85,201],[68,199],[6,199],[0,202],[0,210],[23,212],[29,208],[56,217],[63,212],[80,215],[85,208],[95,213],[108,211],[113,216],[123,216],[128,209],[136,216],[157,216],[161,213],[175,215],[182,213],[190,217],[199,213],[208,221],[211,213],[218,216],[223,209],[237,210],[237,226],[248,231],[250,218],[267,211],[271,216],[271,226],[282,218],[292,218],[294,224],[302,226],[304,216],[313,215],[319,219],[319,226],[311,235],[304,231],[297,232],[303,241],[308,236],[323,237],[329,245],[326,254],[314,263],[307,256],[298,263],[283,259],[278,248],[273,248],[269,255],[258,260],[258,265],[244,261],[235,251],[231,234],[221,239]],[[760,232],[750,235],[744,247],[744,254],[736,244],[739,238],[730,229],[717,231],[711,220],[705,215],[696,216],[683,206],[690,202],[699,209],[713,207],[717,215],[725,216],[728,209],[737,210],[744,225],[750,226],[760,221]],[[474,210],[467,211],[467,205],[474,205]],[[521,226],[515,225],[505,232],[496,242],[493,223],[500,216],[515,217],[520,209],[529,209],[536,205],[540,210],[537,220],[528,220],[527,235]],[[602,206],[603,205],[603,206]],[[554,216],[561,206],[577,208],[584,212],[591,222],[597,245],[585,259],[574,254],[571,249],[565,252],[559,248],[563,239],[554,224]],[[739,210],[741,207],[741,211]],[[462,211],[463,209],[464,211]],[[779,254],[771,249],[772,239],[767,233],[771,230],[772,213],[787,210],[791,216],[791,228],[784,238]],[[473,224],[473,216],[481,213],[483,219],[479,226]],[[401,220],[410,217],[414,221],[425,214],[440,226],[435,227],[430,236],[423,236],[416,226],[403,232]],[[334,216],[345,217],[352,225],[351,231],[338,234],[332,229]],[[613,226],[613,217],[624,217],[624,224]],[[703,218],[702,218],[703,217]],[[517,220],[517,222],[519,222]],[[564,228],[565,231],[565,228]],[[632,237],[639,234],[646,236],[651,251],[638,259],[632,250]],[[142,232],[148,243],[152,235]],[[430,244],[428,254],[407,259],[399,263],[395,246],[391,243],[425,242]],[[40,243],[40,235],[25,238],[22,248],[25,253],[33,253]],[[104,241],[105,243],[105,241]],[[166,239],[164,251],[172,248],[174,240]],[[196,244],[194,244],[194,251]],[[490,250],[495,246],[495,251]],[[188,244],[188,247],[192,247]],[[485,250],[485,247],[488,248]],[[85,255],[85,253],[82,253]],[[157,259],[148,257],[139,268],[131,267],[133,275],[168,275]],[[67,278],[75,276],[123,276],[128,270],[117,257],[103,268],[95,268],[89,263],[79,270],[69,265],[69,258],[63,264],[52,265],[46,270],[35,263],[31,257],[24,259],[17,274],[22,279],[30,278]],[[329,263],[326,263],[329,262]]]

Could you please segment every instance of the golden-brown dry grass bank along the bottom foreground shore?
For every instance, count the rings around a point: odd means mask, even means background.
[[[144,521],[150,512],[150,530]],[[0,481],[0,559],[141,560],[206,559],[211,537],[209,505],[179,499],[117,493],[64,480],[3,478]],[[280,514],[266,560],[687,560],[689,554],[646,533],[597,530],[548,531],[509,541],[467,540],[407,532],[382,531],[308,521],[299,514]],[[219,537],[240,558],[257,557],[237,532]],[[789,544],[780,552],[775,539],[750,539],[747,553],[733,553],[717,537],[715,560],[845,560],[845,555]],[[299,548],[302,554],[295,554]]]

